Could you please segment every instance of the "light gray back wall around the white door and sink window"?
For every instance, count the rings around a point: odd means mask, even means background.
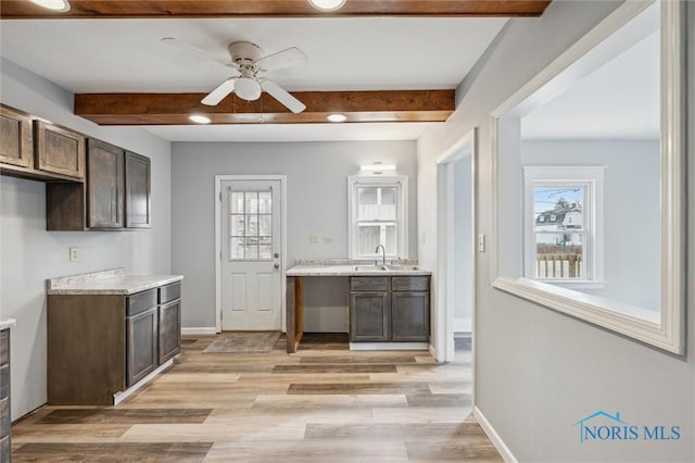
[[[215,175],[287,176],[288,267],[304,259],[348,256],[348,176],[361,164],[396,164],[409,180],[409,255],[416,241],[415,141],[294,143],[173,143],[173,255],[176,273],[186,275],[185,327],[215,326]],[[312,245],[309,235],[332,237]],[[306,281],[305,330],[346,330],[344,278]]]

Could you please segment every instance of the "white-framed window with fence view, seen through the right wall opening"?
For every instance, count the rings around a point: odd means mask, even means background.
[[[523,167],[527,278],[604,285],[603,183],[604,167]]]

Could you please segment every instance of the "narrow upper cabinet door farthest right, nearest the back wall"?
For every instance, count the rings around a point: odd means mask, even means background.
[[[150,225],[150,159],[126,152],[126,227]]]

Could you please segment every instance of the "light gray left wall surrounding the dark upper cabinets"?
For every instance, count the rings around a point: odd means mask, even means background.
[[[152,160],[152,229],[46,232],[46,186],[0,176],[0,317],[12,328],[12,420],[46,402],[45,281],[55,276],[124,266],[132,273],[170,272],[169,142],[137,128],[99,127],[73,115],[73,95],[1,62],[1,101],[101,138]],[[79,260],[68,261],[68,248]]]

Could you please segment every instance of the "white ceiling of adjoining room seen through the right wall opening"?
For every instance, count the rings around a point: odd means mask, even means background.
[[[604,64],[521,120],[521,138],[658,139],[658,2],[581,60]],[[607,54],[608,46],[619,51]],[[549,85],[548,85],[549,86]]]

